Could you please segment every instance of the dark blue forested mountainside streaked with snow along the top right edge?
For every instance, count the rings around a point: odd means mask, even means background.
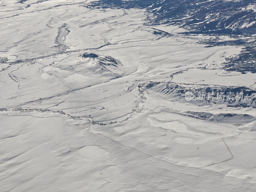
[[[192,31],[224,34],[255,34],[256,4],[253,0],[101,0],[93,6],[143,8],[158,24],[179,24]]]

